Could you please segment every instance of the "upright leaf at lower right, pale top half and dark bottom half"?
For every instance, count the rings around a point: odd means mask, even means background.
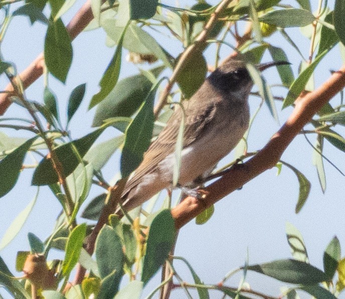
[[[326,250],[323,252],[323,269],[328,280],[332,280],[338,262],[341,257],[340,243],[337,237],[333,237],[329,242]]]

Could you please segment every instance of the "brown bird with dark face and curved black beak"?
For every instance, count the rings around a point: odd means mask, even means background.
[[[256,65],[258,71],[288,62]],[[193,189],[242,139],[249,126],[248,97],[253,80],[241,58],[231,58],[204,81],[199,90],[177,105],[158,137],[150,144],[121,195],[120,209],[129,211],[164,188],[172,187],[175,150],[183,114],[185,128],[179,186]]]

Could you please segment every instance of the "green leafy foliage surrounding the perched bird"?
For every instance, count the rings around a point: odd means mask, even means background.
[[[12,3],[20,6],[13,9]],[[142,5],[144,3],[144,5]],[[225,1],[223,0],[223,2]],[[77,86],[71,92],[68,111],[64,117],[59,112],[59,102],[52,86],[45,81],[44,96],[41,103],[26,98],[23,86],[19,80],[13,80],[17,75],[15,63],[0,61],[0,74],[7,76],[13,84],[14,96],[17,103],[26,109],[31,119],[0,118],[2,128],[26,130],[31,138],[9,137],[0,132],[0,196],[5,196],[16,185],[22,171],[29,171],[27,153],[40,161],[35,165],[32,174],[32,185],[49,186],[51,192],[61,204],[63,213],[56,223],[56,227],[42,241],[33,233],[28,235],[29,251],[17,254],[17,270],[24,271],[24,278],[13,279],[5,261],[0,258],[0,285],[16,298],[30,298],[32,290],[45,298],[139,298],[147,282],[163,266],[163,271],[169,273],[163,276],[161,284],[151,291],[149,298],[165,285],[171,284],[173,278],[178,279],[176,287],[186,291],[191,296],[189,288],[196,288],[200,298],[209,298],[210,290],[218,290],[224,296],[233,298],[268,297],[245,287],[226,286],[226,281],[236,272],[242,271],[246,278],[247,271],[255,271],[263,275],[290,283],[282,296],[298,298],[297,291],[304,291],[316,298],[336,298],[345,288],[345,259],[341,258],[340,244],[336,237],[332,238],[324,250],[323,269],[310,264],[306,245],[301,233],[288,224],[286,235],[291,248],[292,259],[280,259],[260,264],[245,264],[243,267],[230,272],[221,283],[205,284],[190,263],[183,257],[174,256],[174,244],[178,237],[174,217],[170,209],[171,198],[159,208],[152,210],[157,197],[153,197],[146,211],[139,209],[125,214],[122,219],[116,215],[102,218],[103,211],[111,206],[116,188],[112,188],[102,176],[102,168],[115,152],[121,151],[120,169],[122,179],[116,185],[119,190],[126,179],[142,161],[152,137],[155,137],[171,115],[171,109],[164,107],[155,120],[154,100],[156,94],[161,94],[159,86],[164,81],[162,74],[178,72],[174,81],[178,88],[169,93],[168,98],[174,103],[179,96],[181,100],[188,100],[198,90],[207,75],[205,50],[209,45],[217,44],[216,66],[219,64],[221,47],[230,45],[248,63],[248,71],[257,85],[258,95],[262,103],[266,103],[272,117],[278,120],[275,108],[276,97],[273,96],[269,84],[257,71],[255,65],[261,62],[264,53],[269,53],[273,61],[286,60],[286,51],[301,54],[298,46],[285,31],[289,27],[309,26],[311,52],[309,58],[301,55],[299,74],[294,77],[290,66],[278,67],[281,85],[288,89],[283,100],[283,108],[294,105],[297,97],[308,90],[312,84],[312,76],[316,72],[319,62],[330,49],[345,43],[345,1],[336,0],[334,8],[327,8],[321,0],[317,12],[310,11],[308,0],[297,1],[299,6],[286,7],[281,1],[271,0],[240,0],[228,1],[224,9],[216,16],[219,4],[211,6],[204,1],[191,8],[170,7],[164,1],[157,0],[99,0],[91,1],[94,20],[89,29],[101,27],[107,34],[108,42],[116,46],[114,55],[100,79],[100,91],[92,97],[89,108],[97,106],[93,119],[96,127],[89,134],[72,139],[69,130],[70,121],[78,112],[84,100],[85,84]],[[325,2],[327,3],[327,2]],[[0,1],[4,13],[0,41],[6,34],[10,21],[16,22],[16,16],[27,16],[32,24],[41,22],[47,26],[44,57],[49,74],[61,82],[68,80],[68,73],[72,64],[73,49],[71,37],[61,16],[74,4],[70,1],[22,0]],[[45,7],[49,7],[47,10]],[[50,16],[48,16],[50,12]],[[210,27],[205,25],[212,22],[213,16],[218,17]],[[247,37],[240,37],[237,26],[242,21],[250,21]],[[236,25],[236,26],[235,26]],[[243,27],[243,26],[242,26]],[[204,30],[204,32],[203,32]],[[171,34],[184,48],[180,55],[168,53],[160,44],[158,38],[153,38],[152,32],[162,36]],[[206,40],[200,40],[202,34]],[[232,39],[230,36],[235,38]],[[152,35],[151,35],[152,34]],[[288,41],[290,48],[282,49],[270,44],[270,36],[279,34],[280,38]],[[230,41],[230,42],[229,42]],[[191,49],[197,48],[187,59],[184,55]],[[155,63],[154,67],[140,70],[140,73],[119,80],[123,67],[122,52],[130,52],[133,62]],[[181,65],[181,67],[179,67]],[[173,82],[170,82],[170,84]],[[311,87],[313,89],[313,86]],[[166,98],[163,104],[167,104]],[[164,106],[164,105],[163,105]],[[262,105],[260,106],[262,107]],[[326,140],[336,149],[345,151],[345,139],[335,130],[337,126],[345,124],[345,110],[342,102],[338,106],[325,105],[319,115],[310,122],[312,130],[303,130],[305,136],[314,134],[316,145],[313,146],[313,163],[317,169],[322,191],[326,189],[326,174],[323,162],[323,142]],[[18,108],[20,109],[20,108]],[[255,118],[255,116],[254,116]],[[63,124],[62,120],[67,119]],[[27,126],[21,122],[29,123]],[[95,144],[98,137],[106,128],[116,128],[114,136],[101,143]],[[47,129],[46,129],[47,128]],[[174,184],[177,185],[180,170],[182,138],[184,123],[182,122],[176,146],[176,169],[174,170]],[[248,137],[248,132],[245,139]],[[308,139],[307,139],[308,140]],[[245,140],[247,144],[247,140]],[[309,142],[310,143],[310,142]],[[242,143],[241,143],[242,144]],[[249,158],[247,148],[241,150],[241,159]],[[43,158],[42,158],[43,156]],[[230,165],[233,165],[232,162]],[[296,175],[299,183],[299,196],[296,203],[296,213],[305,204],[311,183],[300,170],[287,162],[281,161],[277,167],[287,167]],[[105,188],[95,198],[90,198],[89,191],[95,185]],[[121,191],[119,191],[121,192]],[[15,238],[18,231],[30,216],[36,198],[9,225],[9,229],[0,242],[3,248]],[[115,196],[116,197],[116,196]],[[118,198],[117,198],[118,199]],[[85,209],[81,205],[87,202]],[[115,201],[117,202],[117,201]],[[167,203],[167,204],[166,204]],[[197,217],[197,224],[207,222],[213,214],[211,206]],[[80,217],[85,220],[81,220]],[[100,220],[104,220],[104,225]],[[97,225],[94,221],[98,221]],[[84,221],[84,222],[83,222]],[[77,224],[77,222],[81,222]],[[100,227],[98,227],[100,225]],[[95,257],[89,242],[94,237]],[[93,247],[93,246],[91,246]],[[65,251],[63,260],[47,261],[52,248]],[[191,271],[193,283],[183,282],[176,273],[174,260],[182,260]],[[78,265],[79,262],[79,265]],[[83,272],[83,268],[87,274]],[[71,273],[78,269],[77,277],[71,287],[68,284]],[[337,275],[336,275],[337,274]],[[123,279],[124,276],[127,279]],[[124,284],[123,281],[127,281]],[[243,285],[243,283],[241,284]]]

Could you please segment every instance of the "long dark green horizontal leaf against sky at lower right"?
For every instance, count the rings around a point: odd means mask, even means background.
[[[247,269],[294,284],[315,284],[327,280],[326,274],[320,269],[295,259],[279,259],[268,263],[249,265]]]

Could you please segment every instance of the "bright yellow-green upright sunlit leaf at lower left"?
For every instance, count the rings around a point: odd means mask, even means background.
[[[86,223],[77,225],[70,233],[67,245],[66,255],[62,263],[62,273],[65,277],[69,277],[74,266],[77,264],[80,256],[80,250],[83,246],[86,234]]]

